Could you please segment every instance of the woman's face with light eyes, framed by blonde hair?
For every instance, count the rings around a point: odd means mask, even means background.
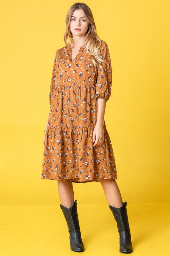
[[[87,21],[85,12],[82,9],[75,10],[72,13],[70,21],[70,31],[74,36],[84,36],[87,33],[89,22]],[[75,30],[78,28],[80,30]]]

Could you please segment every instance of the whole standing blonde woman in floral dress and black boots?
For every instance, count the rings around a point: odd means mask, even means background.
[[[72,182],[100,181],[117,222],[119,251],[133,252],[127,203],[122,202],[115,181],[115,158],[104,121],[111,94],[111,60],[86,4],[70,7],[64,41],[66,46],[55,54],[41,179],[58,180],[60,207],[69,228],[72,251],[85,250]]]

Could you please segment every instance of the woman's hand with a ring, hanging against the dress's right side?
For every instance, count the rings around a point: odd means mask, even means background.
[[[104,129],[103,124],[97,124],[94,127],[93,130],[93,147],[101,146],[101,144],[104,141]]]

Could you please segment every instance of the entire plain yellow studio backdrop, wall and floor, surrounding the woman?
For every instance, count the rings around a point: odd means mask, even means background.
[[[65,16],[74,3],[1,3],[3,255],[76,253],[69,248],[57,181],[41,180],[53,62],[56,50],[65,45]],[[112,61],[105,122],[115,155],[116,182],[123,202],[127,201],[133,254],[165,255],[170,201],[170,2],[84,3],[92,10],[98,36],[107,43]],[[100,183],[73,183],[73,188],[84,253],[121,254]]]

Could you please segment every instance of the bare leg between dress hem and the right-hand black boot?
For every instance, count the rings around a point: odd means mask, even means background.
[[[103,187],[108,204],[116,208],[120,208],[123,205],[123,201],[116,180],[99,180]]]

